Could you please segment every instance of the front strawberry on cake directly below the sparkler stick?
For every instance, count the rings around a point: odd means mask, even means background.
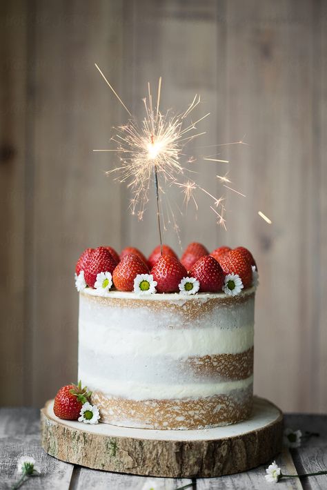
[[[151,269],[153,279],[157,281],[158,293],[174,293],[179,291],[178,285],[187,277],[186,268],[175,257],[161,255]]]

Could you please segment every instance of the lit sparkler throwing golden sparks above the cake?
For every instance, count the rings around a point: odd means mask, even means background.
[[[142,219],[146,204],[148,204],[149,201],[150,183],[152,181],[154,182],[161,253],[161,217],[164,221],[164,208],[161,202],[161,197],[164,194],[163,184],[166,184],[166,186],[171,186],[172,184],[177,185],[181,189],[181,193],[184,194],[184,204],[187,206],[188,203],[192,201],[196,209],[198,208],[198,204],[195,199],[195,191],[199,190],[202,193],[205,193],[213,201],[212,204],[215,207],[210,206],[210,208],[218,217],[217,223],[226,229],[224,197],[215,197],[212,193],[199,186],[199,184],[193,180],[188,179],[186,182],[179,182],[186,172],[192,173],[192,170],[184,167],[181,163],[182,157],[185,159],[186,164],[192,164],[195,161],[194,157],[187,156],[184,153],[184,147],[192,141],[192,139],[205,134],[205,132],[197,132],[197,124],[208,117],[209,113],[199,117],[199,119],[194,122],[192,122],[192,119],[189,122],[186,122],[191,117],[192,111],[199,106],[200,97],[195,95],[188,108],[178,115],[172,115],[169,111],[162,113],[160,110],[160,77],[155,106],[152,104],[152,93],[150,84],[148,84],[148,97],[143,99],[145,117],[143,121],[139,123],[135,117],[132,117],[130,110],[128,110],[115,89],[110,85],[99,66],[97,66],[96,63],[95,66],[101,77],[103,77],[106,84],[114,93],[115,97],[117,97],[123,108],[128,112],[129,119],[125,125],[117,128],[117,134],[111,138],[112,141],[115,142],[115,148],[104,148],[94,151],[115,152],[119,155],[121,165],[109,170],[107,173],[118,173],[119,177],[117,177],[117,179],[119,182],[127,182],[128,188],[132,190],[130,209],[132,214],[137,213],[139,219]],[[244,143],[243,141],[235,141],[232,144]],[[201,157],[201,159],[204,161],[212,161],[215,164],[229,163],[228,160],[218,159],[216,157],[217,154],[206,155]],[[225,176],[217,175],[217,179],[221,182],[222,186],[245,197],[245,195],[238,190],[226,185],[230,183],[227,174]],[[170,202],[168,202],[168,205],[166,203],[166,213],[168,215],[168,221],[171,217],[175,230],[178,230]],[[166,229],[165,222],[163,224]]]

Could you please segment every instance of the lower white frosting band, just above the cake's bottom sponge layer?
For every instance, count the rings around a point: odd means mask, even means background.
[[[170,382],[156,384],[135,383],[130,380],[117,382],[101,376],[96,377],[88,372],[79,371],[79,378],[92,391],[102,391],[108,398],[111,396],[128,398],[128,400],[180,400],[181,398],[206,398],[213,395],[229,394],[235,390],[248,388],[253,383],[253,376],[246,380],[171,384]]]

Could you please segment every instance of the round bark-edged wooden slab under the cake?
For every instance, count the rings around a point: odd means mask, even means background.
[[[60,420],[53,400],[41,410],[46,452],[93,469],[170,478],[239,473],[273,460],[281,450],[283,415],[255,397],[252,418],[199,431],[129,429]]]

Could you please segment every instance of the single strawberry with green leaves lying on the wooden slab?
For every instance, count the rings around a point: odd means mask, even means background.
[[[86,387],[81,387],[81,382],[63,386],[54,398],[54,414],[64,420],[77,420],[81,407],[88,402],[90,395]]]

